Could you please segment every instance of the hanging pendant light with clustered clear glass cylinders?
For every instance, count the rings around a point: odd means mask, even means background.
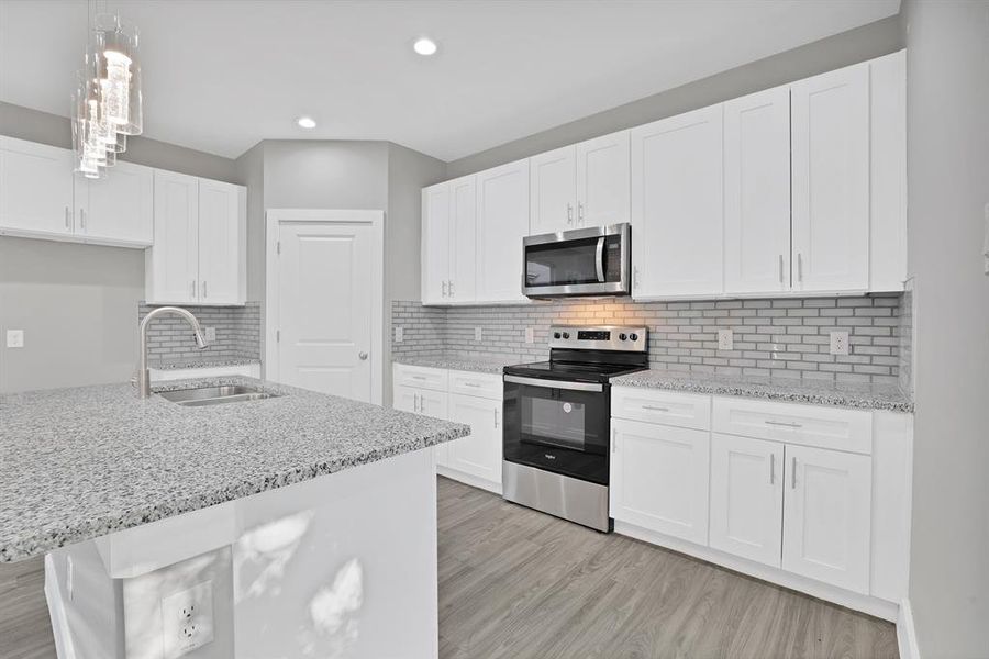
[[[144,130],[137,30],[120,14],[98,13],[89,0],[87,47],[73,90],[76,171],[100,178],[127,148],[127,135]]]

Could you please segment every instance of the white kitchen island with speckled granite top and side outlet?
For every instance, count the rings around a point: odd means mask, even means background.
[[[0,561],[46,555],[59,656],[189,634],[195,658],[435,656],[431,447],[469,428],[242,377],[165,388],[220,383],[273,398],[0,396]]]

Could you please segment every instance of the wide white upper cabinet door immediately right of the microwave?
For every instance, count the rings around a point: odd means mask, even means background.
[[[635,297],[722,291],[722,107],[632,130]]]

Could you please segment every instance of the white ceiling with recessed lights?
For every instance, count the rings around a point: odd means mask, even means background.
[[[100,0],[141,30],[148,137],[390,139],[452,160],[899,11],[900,0]],[[0,100],[67,114],[85,0],[0,0]],[[423,58],[427,34],[440,53]],[[311,114],[314,131],[293,119]]]

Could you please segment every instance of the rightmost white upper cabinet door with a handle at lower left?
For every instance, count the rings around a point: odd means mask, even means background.
[[[791,86],[793,287],[869,282],[869,64]]]

